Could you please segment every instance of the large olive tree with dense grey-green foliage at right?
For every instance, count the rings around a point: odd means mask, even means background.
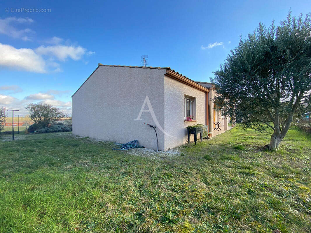
[[[214,72],[215,101],[226,116],[242,117],[244,127],[273,129],[265,148],[277,150],[295,117],[310,103],[310,14],[291,16],[279,26],[262,23],[230,52]]]

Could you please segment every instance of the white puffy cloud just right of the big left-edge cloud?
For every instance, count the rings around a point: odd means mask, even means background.
[[[72,60],[80,60],[81,57],[85,54],[86,49],[81,46],[66,46],[66,45],[54,45],[47,46],[41,45],[35,49],[36,53],[42,55],[52,55],[57,57],[61,61],[65,61],[67,57],[70,57]]]

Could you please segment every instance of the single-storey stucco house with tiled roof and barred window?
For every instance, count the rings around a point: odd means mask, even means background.
[[[73,134],[159,150],[187,142],[186,127],[209,125],[213,131],[210,87],[169,67],[98,64],[72,95]],[[193,121],[187,117],[193,116]],[[227,120],[224,119],[227,122]]]

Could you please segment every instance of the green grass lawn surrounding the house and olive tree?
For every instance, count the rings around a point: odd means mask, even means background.
[[[0,232],[311,231],[311,137],[233,130],[137,156],[71,133],[0,138]]]

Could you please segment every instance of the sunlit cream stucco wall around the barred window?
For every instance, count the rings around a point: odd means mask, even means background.
[[[196,122],[184,122],[185,95],[196,98]],[[164,77],[165,150],[184,144],[188,140],[186,127],[206,125],[206,94],[170,77]],[[193,140],[193,136],[191,136]]]

